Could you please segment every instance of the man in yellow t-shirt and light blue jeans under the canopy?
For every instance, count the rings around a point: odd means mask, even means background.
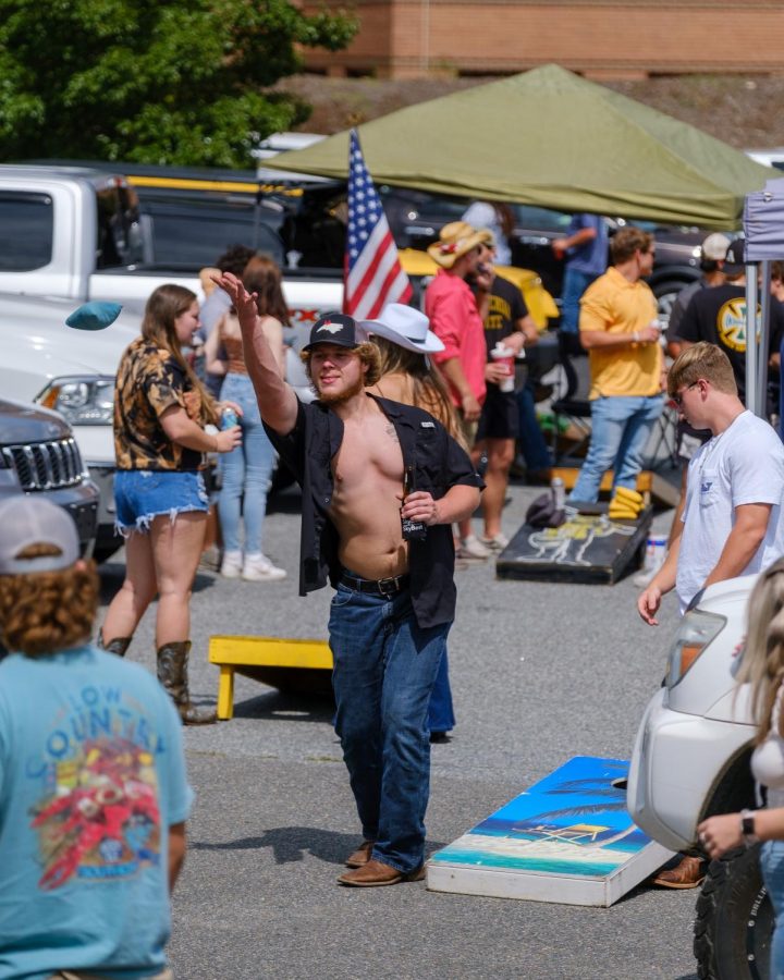
[[[579,338],[591,372],[591,441],[572,500],[593,502],[611,467],[615,487],[634,490],[642,453],[664,402],[657,302],[644,275],[653,236],[623,228],[610,243],[613,265],[583,294]]]

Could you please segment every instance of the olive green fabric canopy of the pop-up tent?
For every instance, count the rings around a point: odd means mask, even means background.
[[[773,171],[719,139],[555,64],[359,126],[377,183],[669,224],[738,228]],[[344,177],[348,133],[274,166]]]

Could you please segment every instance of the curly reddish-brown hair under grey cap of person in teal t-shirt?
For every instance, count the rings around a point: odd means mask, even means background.
[[[32,544],[17,558],[60,554]],[[63,572],[0,575],[0,637],[9,650],[46,657],[87,641],[93,633],[100,584],[95,562]]]

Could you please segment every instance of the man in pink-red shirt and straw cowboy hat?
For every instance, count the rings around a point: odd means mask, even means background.
[[[425,313],[430,329],[444,345],[443,351],[431,357],[446,379],[469,450],[487,392],[487,343],[485,324],[466,277],[477,271],[482,245],[491,241],[488,231],[477,231],[465,221],[453,221],[441,229],[439,241],[428,248],[439,271],[425,293]],[[490,556],[490,550],[471,532],[470,519],[461,523],[460,535],[458,558]]]

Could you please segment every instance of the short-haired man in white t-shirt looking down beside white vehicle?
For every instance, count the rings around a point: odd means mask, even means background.
[[[744,408],[730,358],[714,344],[688,347],[670,370],[667,392],[686,421],[712,438],[689,463],[681,539],[637,600],[651,626],[671,589],[684,613],[707,586],[784,555],[784,446]]]

